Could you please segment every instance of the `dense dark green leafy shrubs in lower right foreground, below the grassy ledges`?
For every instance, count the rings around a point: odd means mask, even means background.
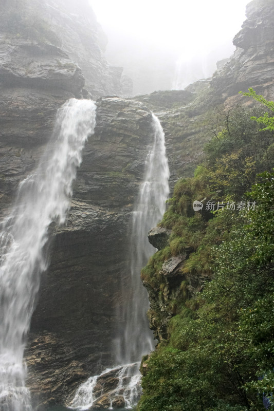
[[[273,392],[274,173],[260,179],[249,193],[260,217],[234,217],[227,240],[211,250],[214,278],[196,297],[198,309],[182,307],[170,322],[168,348],[177,351],[154,353],[139,411],[260,410],[263,393]],[[231,219],[219,214],[214,220]]]

